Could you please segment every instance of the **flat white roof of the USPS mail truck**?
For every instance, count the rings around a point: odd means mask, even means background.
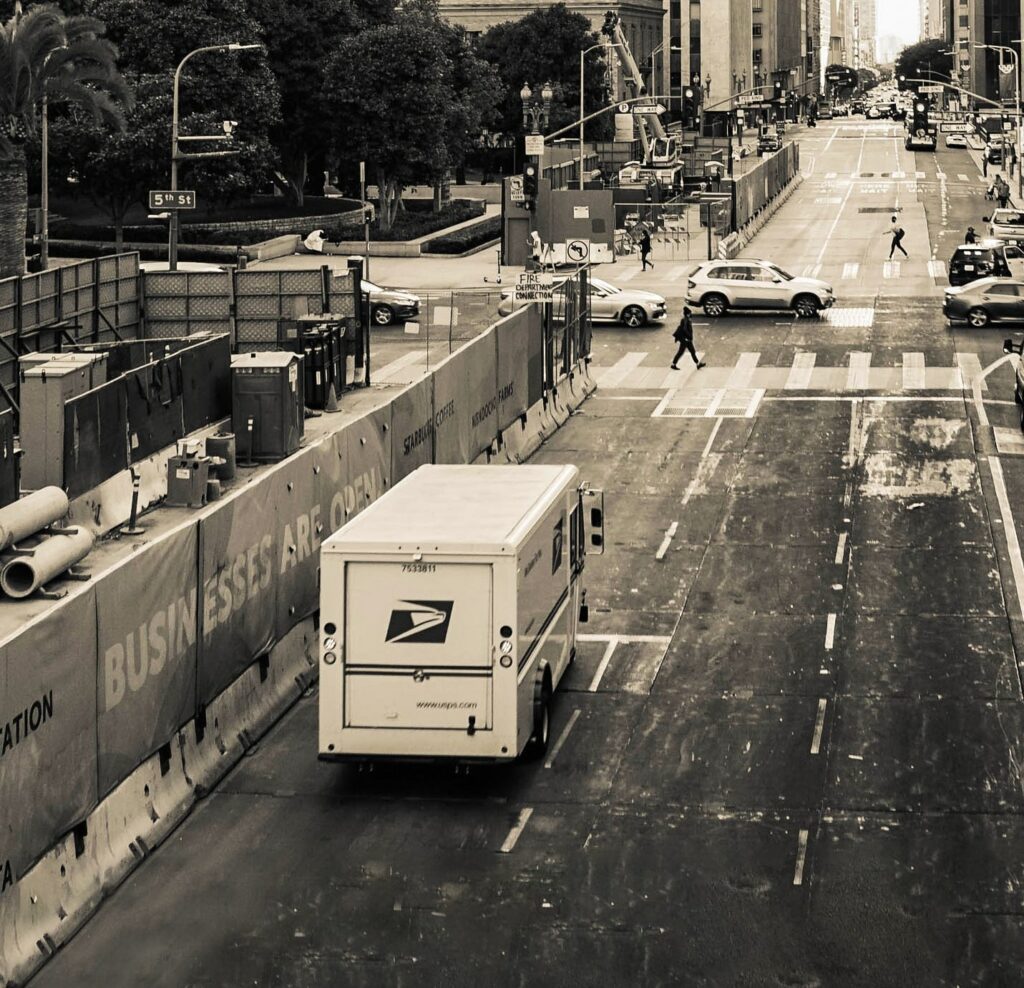
[[[324,550],[507,551],[578,482],[573,466],[423,466],[331,535]]]

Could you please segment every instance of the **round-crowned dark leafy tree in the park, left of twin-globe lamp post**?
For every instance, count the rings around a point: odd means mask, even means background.
[[[394,221],[406,185],[438,180],[460,164],[498,91],[494,70],[427,0],[336,45],[324,127],[341,164],[365,160],[375,172],[382,228]]]

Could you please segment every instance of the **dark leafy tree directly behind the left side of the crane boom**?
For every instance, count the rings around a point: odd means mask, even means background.
[[[517,133],[522,125],[522,84],[540,91],[551,82],[555,99],[550,129],[557,130],[580,116],[580,52],[597,44],[590,22],[564,3],[535,10],[519,20],[495,25],[477,44],[480,57],[497,70],[502,83],[498,129]],[[584,61],[584,110],[590,114],[607,105],[610,93],[607,66],[601,50],[592,51]],[[603,133],[608,124],[600,120],[591,128]]]

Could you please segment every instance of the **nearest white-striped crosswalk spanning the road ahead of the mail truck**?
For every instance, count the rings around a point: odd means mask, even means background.
[[[714,353],[698,351],[708,367],[697,371],[688,356],[680,361],[679,370],[668,367],[666,355],[636,350],[624,354],[614,363],[591,364],[591,375],[604,392],[615,390],[694,391],[718,394],[746,390],[828,393],[881,392],[914,393],[921,391],[964,391],[981,379],[981,361],[976,353],[957,353],[955,367],[929,367],[923,352],[907,351],[899,363],[877,366],[868,350],[852,350],[842,364],[818,362],[813,350],[798,350],[785,367],[763,366],[761,353],[740,353],[731,366],[715,366]],[[981,380],[981,390],[988,386]],[[748,402],[751,400],[748,397]],[[664,414],[664,413],[659,413]]]

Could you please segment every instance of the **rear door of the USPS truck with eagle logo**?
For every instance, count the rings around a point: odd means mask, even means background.
[[[492,726],[492,566],[349,562],[344,726]]]

